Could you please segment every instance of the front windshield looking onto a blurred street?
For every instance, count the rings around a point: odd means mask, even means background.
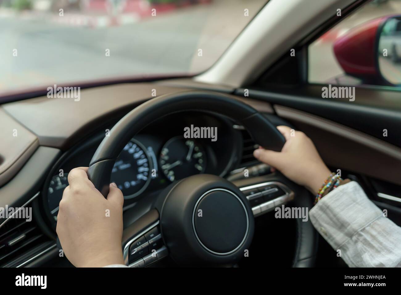
[[[187,75],[222,55],[265,0],[0,0],[0,94]]]

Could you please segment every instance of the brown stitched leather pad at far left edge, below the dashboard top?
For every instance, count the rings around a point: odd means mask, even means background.
[[[39,146],[38,138],[0,107],[0,186],[21,169]],[[14,129],[16,135],[14,136]]]

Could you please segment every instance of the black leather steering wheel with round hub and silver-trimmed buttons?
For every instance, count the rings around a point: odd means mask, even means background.
[[[88,177],[104,197],[109,192],[115,160],[126,143],[158,118],[184,110],[209,111],[232,118],[243,124],[265,149],[281,151],[285,143],[284,136],[265,116],[233,96],[190,91],[156,97],[119,120],[93,155]],[[122,247],[126,264],[144,267],[170,255],[179,265],[235,265],[249,249],[254,215],[260,214],[261,209],[252,208],[243,191],[261,184],[277,184],[283,192],[282,203],[293,199],[293,205],[311,206],[308,192],[279,173],[236,184],[216,175],[186,177],[164,189],[150,210],[125,228]],[[278,204],[277,199],[267,203],[271,209]],[[294,267],[313,266],[316,238],[309,220],[297,220]]]

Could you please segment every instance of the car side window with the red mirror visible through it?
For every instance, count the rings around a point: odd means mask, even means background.
[[[308,82],[401,87],[401,1],[365,4],[310,44]]]

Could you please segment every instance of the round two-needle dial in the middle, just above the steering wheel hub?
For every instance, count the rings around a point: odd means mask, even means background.
[[[184,136],[173,137],[160,153],[160,170],[170,181],[205,172],[206,156],[202,146]]]

